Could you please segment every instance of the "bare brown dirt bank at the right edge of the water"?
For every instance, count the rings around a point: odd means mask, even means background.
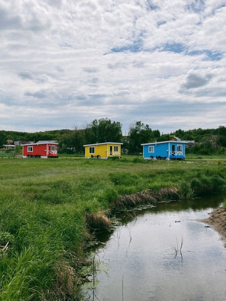
[[[200,219],[202,223],[210,225],[211,228],[215,229],[222,238],[226,239],[226,210],[220,207],[209,213],[207,219]]]

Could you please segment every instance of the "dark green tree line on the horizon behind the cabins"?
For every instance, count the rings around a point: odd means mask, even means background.
[[[108,118],[95,119],[84,128],[52,130],[45,132],[27,133],[0,130],[0,146],[7,144],[7,140],[35,141],[58,140],[58,150],[61,153],[82,153],[83,145],[103,142],[122,142],[123,148],[131,154],[142,152],[142,143],[166,141],[176,136],[181,140],[195,140],[199,145],[188,150],[195,153],[225,153],[226,127],[217,129],[178,129],[170,134],[160,134],[158,129],[151,129],[148,124],[137,121],[130,125],[128,135],[122,135],[122,124]]]

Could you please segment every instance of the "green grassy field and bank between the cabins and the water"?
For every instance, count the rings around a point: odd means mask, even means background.
[[[0,299],[75,300],[86,274],[89,227],[107,227],[110,211],[138,198],[225,192],[225,166],[138,157],[0,158],[0,244],[10,242],[7,254],[0,251]]]

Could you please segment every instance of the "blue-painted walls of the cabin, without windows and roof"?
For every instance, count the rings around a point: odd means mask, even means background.
[[[185,143],[181,143],[181,142],[176,142],[176,141],[172,141],[170,142],[170,151],[172,151],[172,145],[175,145],[175,151],[177,151],[177,145],[178,144],[182,144],[182,150],[183,150],[183,156],[185,157]],[[153,153],[149,153],[149,146],[154,146],[154,152]],[[144,158],[150,158],[150,156],[153,156],[154,158],[156,156],[161,156],[161,157],[165,157],[168,158],[169,157],[169,142],[162,142],[162,143],[157,143],[157,145],[155,144],[149,144],[149,145],[143,145],[143,156]],[[176,158],[181,158],[181,156],[175,156]]]

